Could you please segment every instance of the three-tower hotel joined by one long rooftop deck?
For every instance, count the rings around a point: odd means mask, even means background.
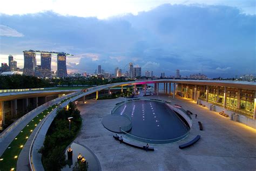
[[[36,68],[40,73],[40,77],[51,77],[51,57],[52,54],[57,55],[57,77],[66,77],[66,56],[73,56],[64,52],[47,52],[47,51],[23,51],[24,53],[24,69],[26,76],[36,76]],[[36,65],[36,54],[41,54],[41,66]]]

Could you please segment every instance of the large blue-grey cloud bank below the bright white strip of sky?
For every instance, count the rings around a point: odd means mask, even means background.
[[[80,58],[70,59],[68,66],[79,72],[94,72],[97,65],[108,72],[114,67],[125,70],[131,61],[143,73],[152,66],[155,74],[167,76],[180,69],[182,75],[203,71],[210,77],[233,77],[256,72],[255,23],[255,15],[228,6],[168,4],[105,20],[52,12],[1,15],[1,25],[24,35],[1,37],[1,53],[73,53]]]

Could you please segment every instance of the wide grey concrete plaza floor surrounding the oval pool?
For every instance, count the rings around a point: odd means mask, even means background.
[[[209,111],[192,100],[179,97],[173,100],[167,95],[147,98],[172,100],[171,104],[197,113],[197,119],[192,115],[191,133],[182,141],[153,145],[155,151],[146,152],[120,144],[113,139],[114,133],[102,125],[102,118],[111,114],[123,98],[78,104],[83,127],[75,142],[95,153],[102,170],[256,170],[256,129]],[[199,131],[198,121],[204,131]],[[201,139],[195,145],[179,149],[180,144],[196,135],[201,135]]]

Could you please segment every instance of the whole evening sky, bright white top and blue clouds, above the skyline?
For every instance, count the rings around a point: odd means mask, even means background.
[[[14,5],[15,4],[15,5]],[[203,73],[210,78],[256,74],[255,1],[2,1],[0,60],[23,50],[72,53],[68,72],[154,75]],[[40,57],[37,56],[37,65]],[[56,56],[52,70],[56,71]]]

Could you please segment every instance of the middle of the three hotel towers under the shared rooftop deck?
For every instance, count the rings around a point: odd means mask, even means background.
[[[41,53],[41,77],[51,77],[50,53]]]

